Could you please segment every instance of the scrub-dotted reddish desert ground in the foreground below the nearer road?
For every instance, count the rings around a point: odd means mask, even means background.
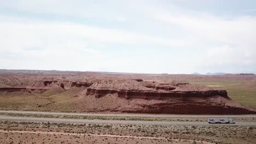
[[[0,139],[0,143],[10,143],[11,141],[19,143],[19,141],[26,142],[26,140],[30,142],[38,140],[45,143],[253,143],[256,130],[254,126],[251,127],[238,125],[193,127],[189,125],[165,126],[0,121],[0,130],[6,131],[4,133],[1,131],[0,137],[8,137],[8,139]],[[33,131],[38,134],[11,133],[13,130],[21,132]],[[39,133],[40,131],[48,131],[48,133],[42,134]],[[13,136],[16,138],[13,140],[9,139]],[[139,138],[143,136],[146,137]],[[25,139],[25,137],[27,138]],[[139,139],[136,139],[136,137]],[[155,138],[147,139],[147,137]]]

